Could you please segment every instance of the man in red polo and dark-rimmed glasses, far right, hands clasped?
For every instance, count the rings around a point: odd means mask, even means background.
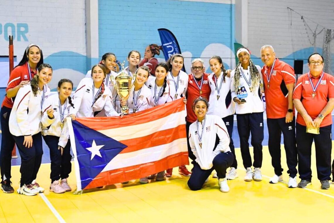
[[[323,72],[324,58],[313,53],[308,58],[310,71],[298,78],[293,103],[298,111],[296,140],[299,188],[311,184],[311,147],[314,140],[318,179],[321,189],[329,189],[332,152],[332,110],[334,77]]]

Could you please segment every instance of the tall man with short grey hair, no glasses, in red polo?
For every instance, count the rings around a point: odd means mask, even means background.
[[[265,85],[266,113],[268,126],[268,147],[272,157],[275,175],[269,180],[276,184],[283,181],[281,165],[281,134],[284,137],[284,148],[287,156],[288,187],[297,187],[297,148],[295,137],[295,115],[292,94],[296,82],[293,68],[275,58],[271,45],[261,47],[261,59],[265,63],[262,68]]]

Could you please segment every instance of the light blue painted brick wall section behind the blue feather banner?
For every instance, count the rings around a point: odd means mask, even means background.
[[[133,49],[143,54],[148,44],[161,44],[157,29],[167,28],[176,36],[187,57],[187,71],[189,61],[197,57],[209,58],[220,52],[229,59],[230,53],[209,45],[217,43],[232,48],[233,10],[233,4],[220,3],[99,0],[99,55],[112,51],[123,61]],[[159,58],[163,58],[162,53]]]

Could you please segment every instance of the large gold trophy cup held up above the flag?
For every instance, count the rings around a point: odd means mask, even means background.
[[[136,81],[136,74],[134,74],[131,77],[130,75],[125,73],[124,64],[125,64],[125,61],[123,61],[123,64],[121,64],[122,72],[120,75],[118,75],[117,77],[111,76],[111,82],[114,88],[116,89],[118,96],[122,100],[128,100],[128,98],[130,97],[132,87]],[[132,84],[132,80],[133,80],[133,84]],[[125,115],[129,114],[129,107],[127,105],[122,106],[121,112],[122,114],[125,114]]]

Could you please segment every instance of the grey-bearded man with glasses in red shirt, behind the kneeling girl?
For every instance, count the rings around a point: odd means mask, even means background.
[[[191,151],[189,145],[189,126],[191,123],[197,120],[197,116],[195,115],[194,110],[192,109],[193,102],[198,97],[203,97],[209,101],[211,88],[208,83],[209,74],[204,73],[205,66],[204,61],[196,58],[191,62],[191,74],[189,74],[188,79],[188,88],[187,88],[187,117],[186,117],[186,131],[187,131],[187,144],[188,144],[188,153],[189,158],[193,161],[196,159],[194,154]]]

